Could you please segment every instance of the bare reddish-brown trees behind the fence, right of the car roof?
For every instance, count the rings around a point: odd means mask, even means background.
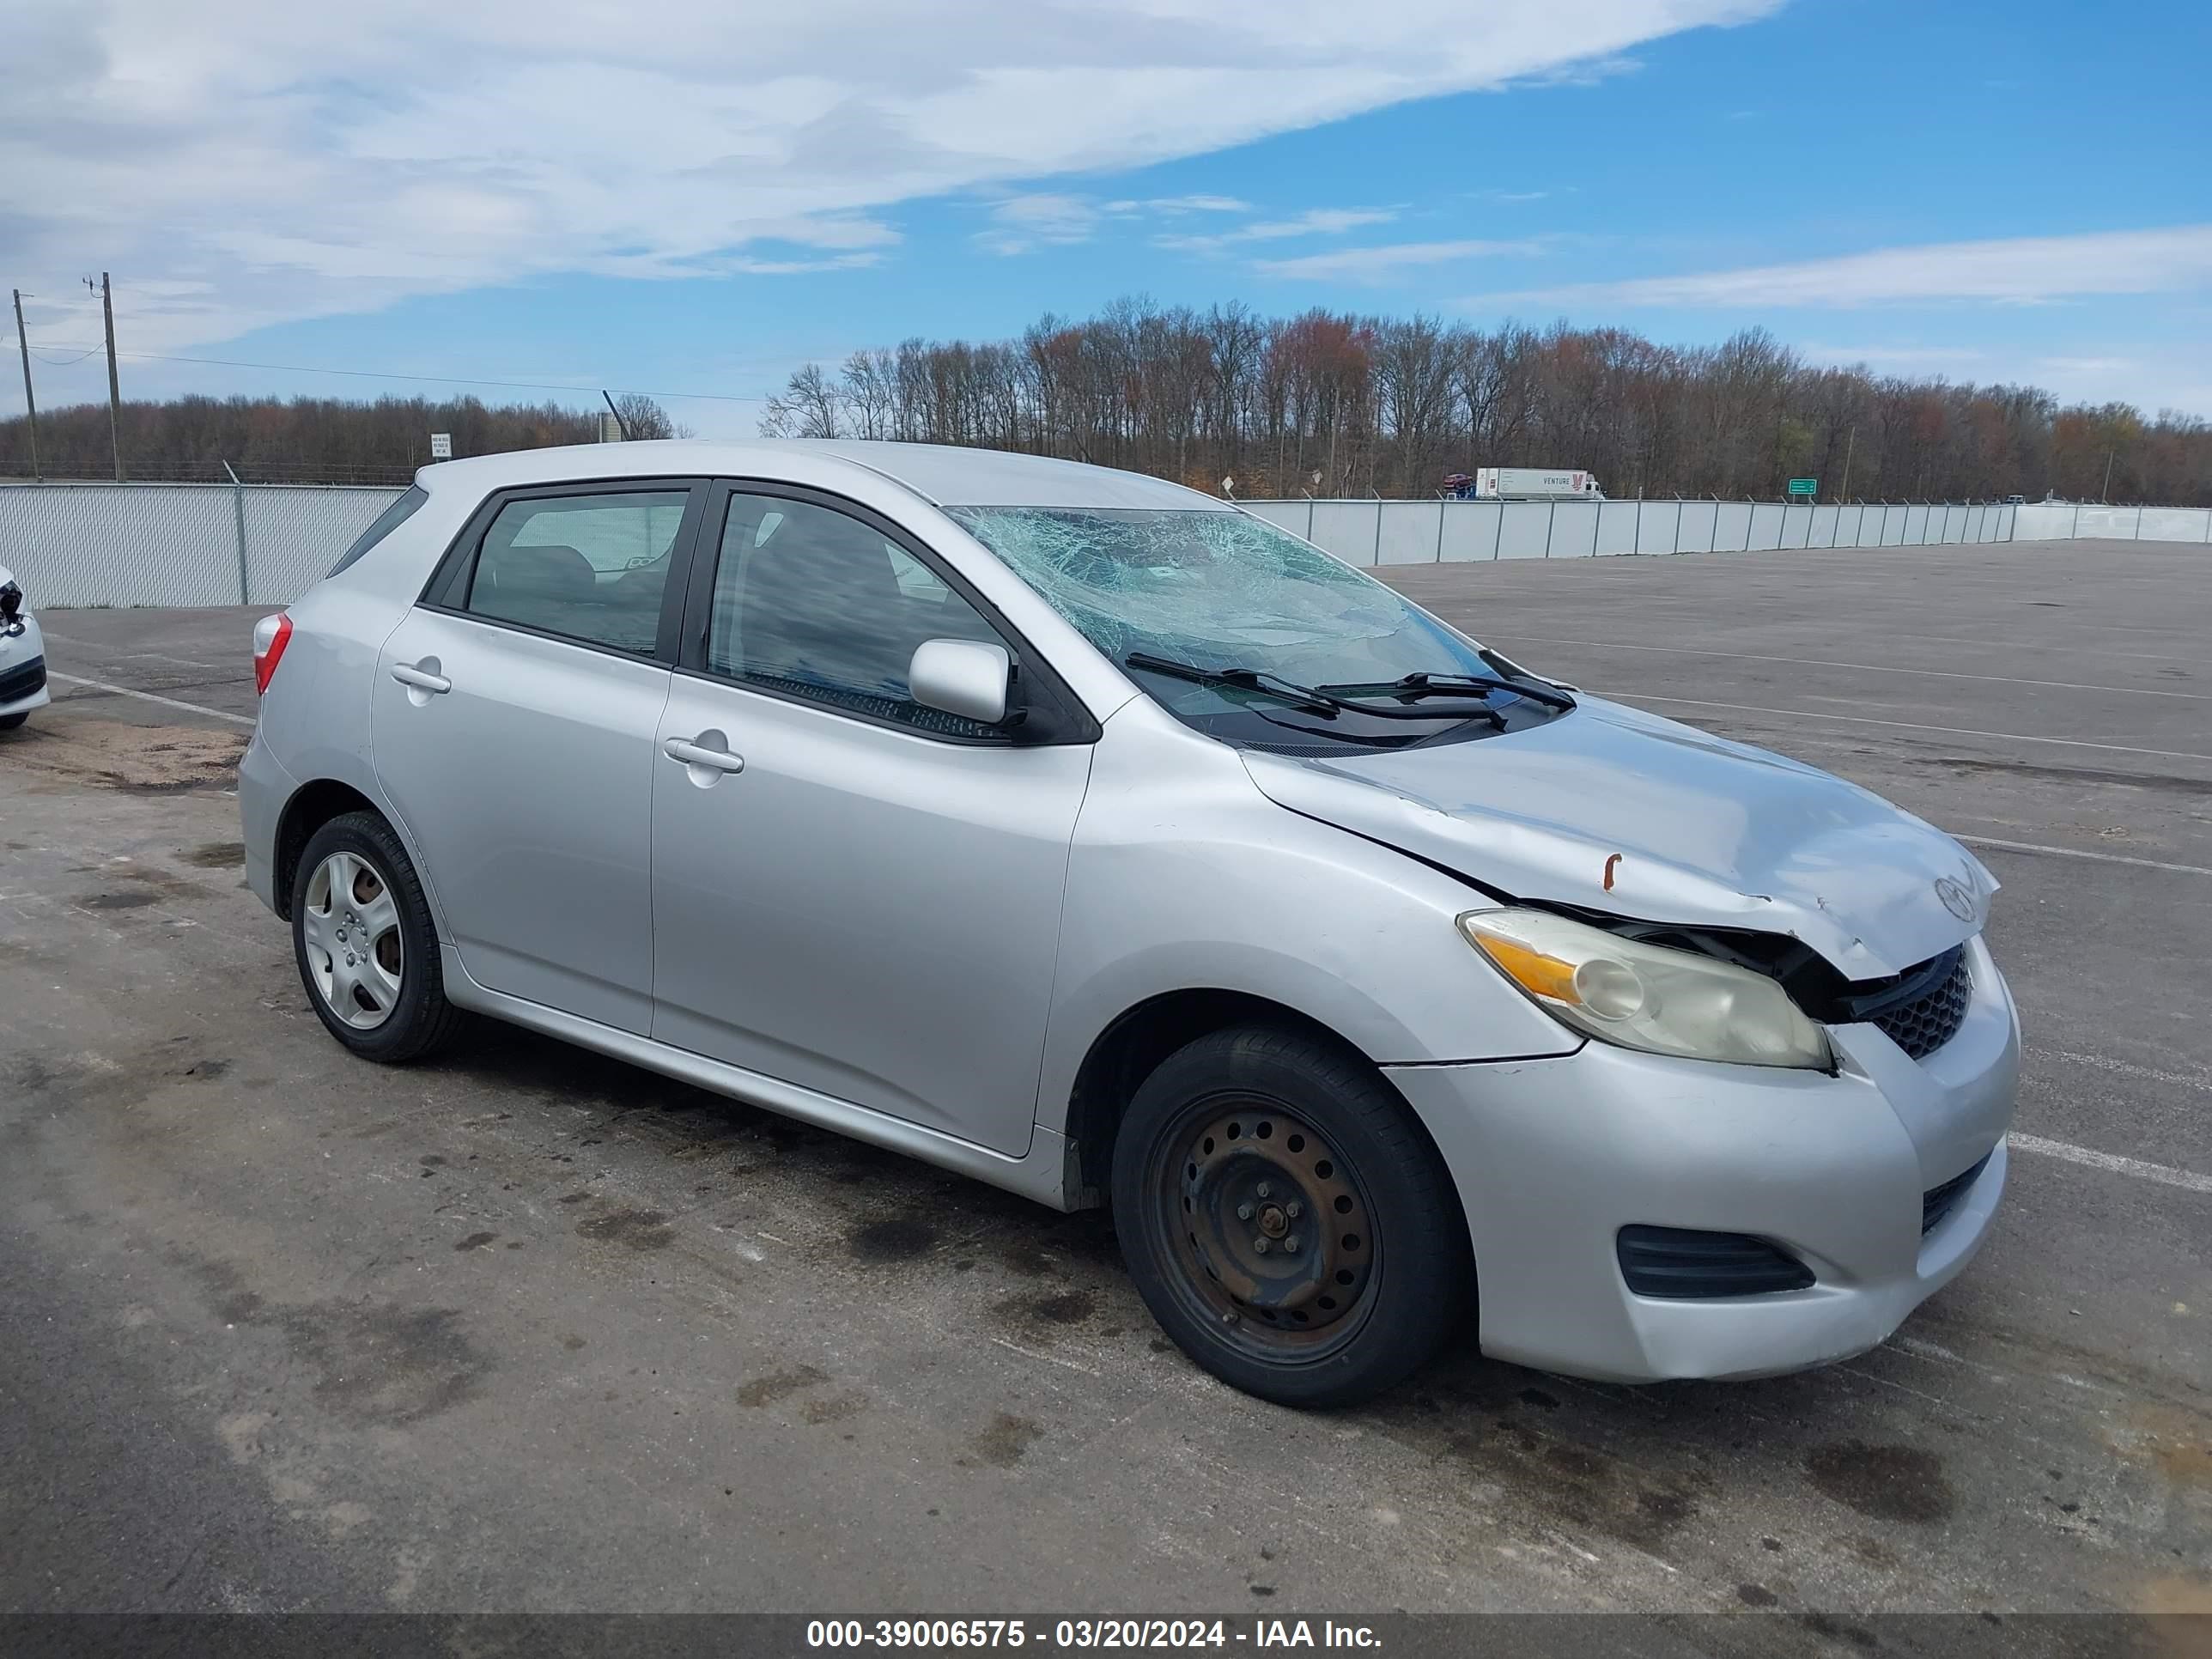
[[[2212,422],[1807,363],[1765,330],[1659,345],[1619,327],[1121,299],[1011,341],[807,363],[765,436],[905,438],[1091,460],[1219,491],[1433,495],[1451,471],[1579,467],[1606,493],[2212,504]]]

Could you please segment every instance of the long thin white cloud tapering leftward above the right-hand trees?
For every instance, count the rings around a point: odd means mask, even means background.
[[[1486,310],[1498,305],[1849,307],[1909,301],[2035,305],[2079,294],[2172,294],[2208,285],[2212,285],[2212,226],[2172,226],[1882,248],[1796,265],[1482,294],[1467,303]]]

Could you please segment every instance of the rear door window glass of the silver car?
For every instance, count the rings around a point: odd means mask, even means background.
[[[650,489],[507,502],[462,611],[650,657],[688,500]]]

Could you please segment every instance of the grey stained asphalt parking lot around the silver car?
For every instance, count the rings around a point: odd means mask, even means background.
[[[2011,1190],[1889,1345],[1621,1389],[1462,1343],[1296,1416],[1099,1214],[515,1031],[354,1062],[239,869],[257,613],[55,611],[0,737],[0,1604],[2212,1610],[2212,551],[1391,580],[1997,872]]]

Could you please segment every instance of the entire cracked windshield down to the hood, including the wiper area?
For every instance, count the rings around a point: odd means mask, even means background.
[[[1504,690],[1489,697],[1498,719],[1482,721],[1469,721],[1464,697],[1455,706],[1438,699],[1433,721],[1354,708],[1316,714],[1265,690],[1192,684],[1130,664],[1135,655],[1197,670],[1250,670],[1272,684],[1327,686],[1398,708],[1427,708],[1383,692],[1409,675],[1526,681],[1524,670],[1411,599],[1250,513],[947,511],[1170,712],[1230,741],[1402,748],[1447,730],[1482,737],[1555,712],[1555,697],[1546,703]]]

